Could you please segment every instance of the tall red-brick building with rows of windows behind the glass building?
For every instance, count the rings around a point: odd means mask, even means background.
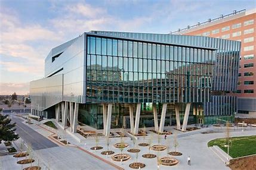
[[[238,90],[238,116],[256,117],[256,9],[233,11],[171,34],[209,36],[242,42]]]

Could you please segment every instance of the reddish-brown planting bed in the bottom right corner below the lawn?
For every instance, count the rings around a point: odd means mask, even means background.
[[[256,156],[246,156],[238,159],[231,159],[229,167],[232,170],[245,170],[255,169],[256,167]]]

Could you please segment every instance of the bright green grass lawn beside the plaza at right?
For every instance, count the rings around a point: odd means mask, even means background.
[[[217,145],[227,153],[226,138],[215,138],[208,142],[208,147]],[[256,154],[256,136],[232,137],[229,144],[229,155],[232,158]]]

